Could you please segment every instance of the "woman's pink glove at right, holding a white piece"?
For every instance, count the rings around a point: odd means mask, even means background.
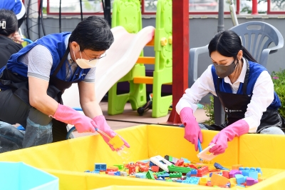
[[[214,139],[210,142],[211,144],[216,144],[209,149],[209,152],[212,152],[214,155],[222,154],[227,149],[227,142],[232,141],[234,136],[241,136],[249,132],[249,124],[244,119],[239,119],[239,121],[234,122],[227,126],[226,128],[219,131],[219,133],[214,136]]]

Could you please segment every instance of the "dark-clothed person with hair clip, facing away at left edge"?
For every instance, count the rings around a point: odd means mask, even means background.
[[[0,9],[0,68],[7,64],[11,54],[23,48],[21,44],[13,41],[17,30],[18,21],[14,12]]]

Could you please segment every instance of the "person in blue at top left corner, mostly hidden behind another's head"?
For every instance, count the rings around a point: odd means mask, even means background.
[[[24,22],[26,16],[26,8],[21,0],[2,0],[0,1],[0,9],[13,11],[14,14],[16,14],[16,18],[18,20],[18,28],[21,27],[21,24]],[[19,44],[24,42],[24,40],[21,39],[18,30],[15,32],[13,39],[16,43]]]

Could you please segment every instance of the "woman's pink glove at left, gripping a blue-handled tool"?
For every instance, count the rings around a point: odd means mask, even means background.
[[[202,132],[193,115],[193,110],[190,107],[185,107],[180,111],[180,119],[185,126],[184,139],[190,141],[198,150],[198,138],[202,143]]]

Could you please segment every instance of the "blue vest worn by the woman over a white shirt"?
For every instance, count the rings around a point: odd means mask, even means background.
[[[267,71],[264,68],[264,66],[261,66],[260,64],[249,61],[249,79],[248,79],[248,84],[247,84],[247,95],[252,96],[252,91],[254,90],[254,84],[256,83],[257,78],[259,77],[262,71]],[[214,69],[214,65],[212,66],[212,76],[213,76],[213,81],[214,81],[214,89],[216,89],[217,91],[218,76],[216,74],[216,69]],[[244,85],[243,83],[239,84],[239,89],[237,91],[237,94],[243,94],[242,93],[243,85]],[[224,82],[224,79],[222,79],[220,80],[219,91],[232,93],[232,88],[228,83]],[[281,107],[281,101],[279,99],[279,96],[277,96],[276,92],[274,91],[274,100],[269,105],[269,108],[277,110],[279,109],[279,107]]]

